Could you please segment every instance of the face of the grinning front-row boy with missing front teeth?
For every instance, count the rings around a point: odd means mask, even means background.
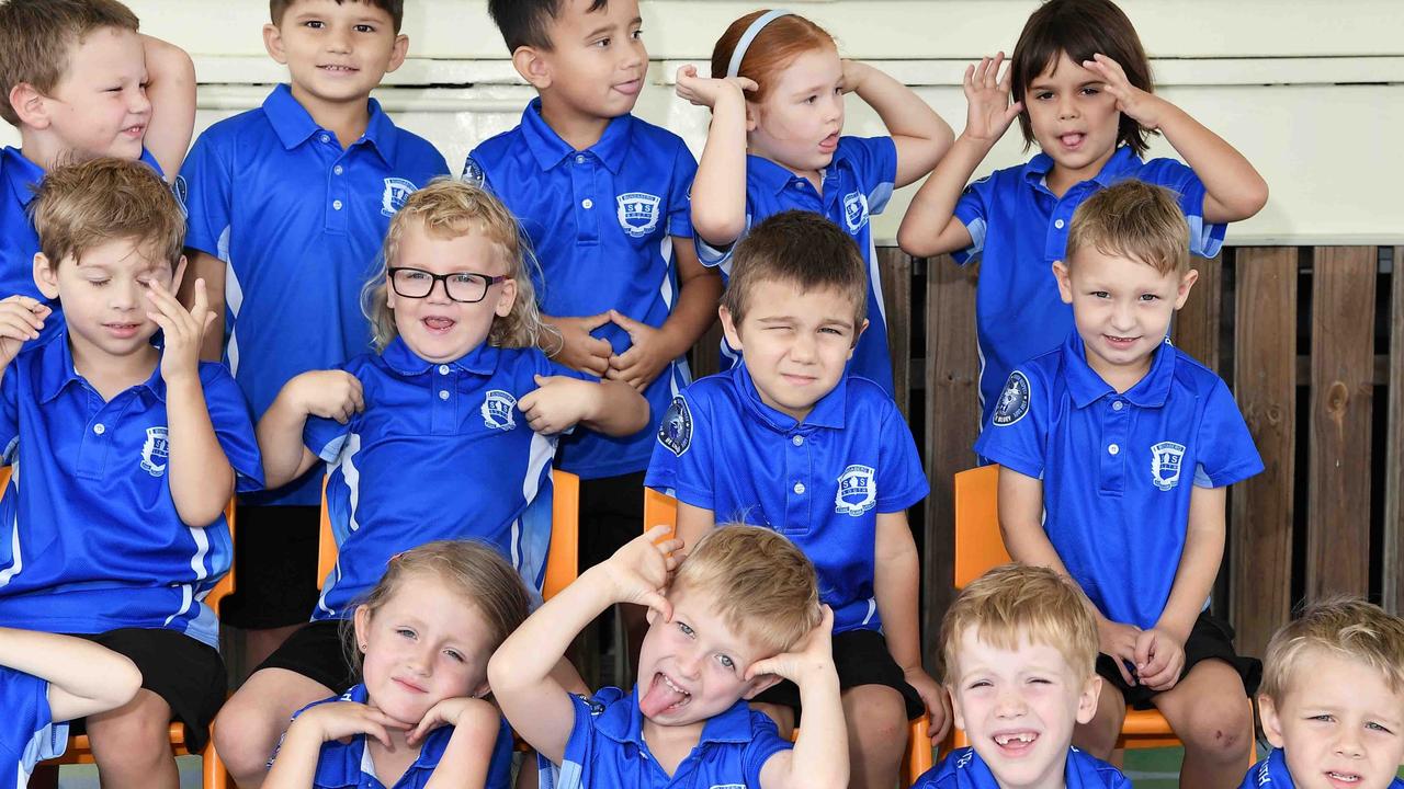
[[[1049,644],[1026,639],[1015,650],[960,636],[948,681],[956,726],[963,729],[1002,789],[1063,786],[1073,729],[1092,720],[1102,681],[1082,677]]]

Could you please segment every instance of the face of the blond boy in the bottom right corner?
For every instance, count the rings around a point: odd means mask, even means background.
[[[1404,694],[1365,663],[1303,656],[1285,698],[1259,696],[1268,741],[1300,789],[1384,789],[1404,762]]]

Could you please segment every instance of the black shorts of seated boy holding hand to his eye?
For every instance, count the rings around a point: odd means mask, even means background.
[[[121,628],[105,633],[77,635],[125,654],[142,672],[142,688],[171,708],[171,720],[185,724],[185,745],[199,752],[209,741],[209,722],[225,703],[229,689],[225,661],[213,647],[185,633],[164,628]],[[87,731],[74,720],[70,734]]]

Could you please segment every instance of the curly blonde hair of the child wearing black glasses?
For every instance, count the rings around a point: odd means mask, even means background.
[[[550,333],[541,320],[536,288],[531,278],[536,271],[536,257],[517,219],[491,192],[444,177],[435,178],[404,201],[404,208],[390,220],[390,229],[385,234],[380,270],[361,292],[361,307],[371,320],[376,351],[383,351],[400,336],[395,327],[395,310],[386,303],[386,270],[395,265],[400,241],[410,225],[418,225],[425,233],[441,239],[477,233],[497,248],[507,265],[507,277],[517,282],[517,300],[507,317],[493,320],[493,329],[487,334],[489,345],[529,348],[538,344],[543,333]]]

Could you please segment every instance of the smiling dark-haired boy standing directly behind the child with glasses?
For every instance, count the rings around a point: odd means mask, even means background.
[[[204,358],[223,355],[256,418],[292,376],[371,347],[359,292],[385,229],[410,192],[448,173],[434,146],[369,98],[404,60],[403,0],[268,6],[264,44],[288,66],[289,84],[206,129],[177,183],[191,264],[222,305]],[[246,665],[258,665],[316,601],[319,486],[310,475],[240,497],[240,581],[222,618],[249,630]],[[220,754],[236,778],[268,761],[267,752],[240,760],[223,741]]]

